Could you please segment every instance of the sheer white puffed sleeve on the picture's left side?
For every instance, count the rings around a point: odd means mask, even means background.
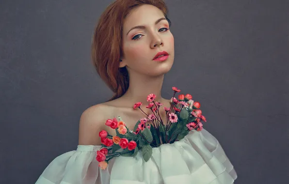
[[[110,166],[102,170],[96,160],[96,151],[100,147],[78,145],[76,151],[59,155],[43,171],[36,184],[109,184]]]

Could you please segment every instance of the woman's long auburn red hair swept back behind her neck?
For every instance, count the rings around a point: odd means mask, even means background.
[[[98,75],[114,92],[108,101],[121,97],[128,90],[128,70],[126,67],[119,68],[123,56],[123,23],[132,9],[143,4],[159,8],[170,26],[167,6],[163,0],[115,0],[100,15],[96,25],[91,47],[92,62]]]

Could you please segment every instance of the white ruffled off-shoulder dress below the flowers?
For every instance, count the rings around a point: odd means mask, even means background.
[[[139,151],[136,157],[112,158],[105,170],[96,160],[100,147],[78,145],[56,157],[36,184],[233,184],[237,178],[218,140],[205,129],[153,148],[147,162]]]

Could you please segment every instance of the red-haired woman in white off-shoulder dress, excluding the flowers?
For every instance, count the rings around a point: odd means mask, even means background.
[[[137,26],[137,27],[136,27]],[[101,15],[96,27],[92,59],[99,76],[115,95],[89,107],[80,117],[76,151],[55,158],[36,184],[232,184],[237,178],[219,142],[206,130],[192,131],[185,138],[154,148],[149,161],[140,155],[116,157],[100,169],[96,151],[98,132],[115,131],[107,119],[122,117],[129,129],[144,118],[133,104],[148,105],[146,96],[170,107],[161,97],[164,74],[174,62],[174,37],[162,0],[116,0]],[[156,59],[159,55],[165,57]],[[149,114],[149,109],[145,113]],[[165,111],[161,116],[165,119]]]

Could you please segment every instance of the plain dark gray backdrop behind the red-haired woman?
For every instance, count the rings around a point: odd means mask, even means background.
[[[90,61],[94,26],[111,2],[1,0],[1,184],[35,183],[76,150],[81,113],[112,96]],[[177,86],[201,103],[235,184],[288,184],[288,0],[166,4],[175,63],[163,96]]]

